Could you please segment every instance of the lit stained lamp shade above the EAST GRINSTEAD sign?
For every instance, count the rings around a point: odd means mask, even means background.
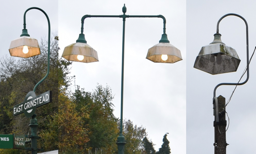
[[[22,58],[41,54],[38,41],[29,36],[21,36],[20,38],[11,41],[9,52],[11,56]]]

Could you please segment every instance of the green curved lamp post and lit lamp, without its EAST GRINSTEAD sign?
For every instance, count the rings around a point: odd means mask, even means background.
[[[43,82],[46,77],[49,75],[49,70],[50,70],[50,21],[49,21],[49,17],[48,15],[45,13],[44,10],[38,8],[38,7],[31,7],[29,9],[27,9],[24,13],[24,24],[23,24],[23,30],[22,30],[22,34],[20,35],[20,37],[18,39],[15,39],[13,41],[11,41],[11,45],[9,48],[9,52],[11,56],[15,56],[15,57],[22,57],[22,58],[29,58],[32,56],[36,56],[36,55],[40,55],[40,48],[39,48],[39,44],[38,41],[32,37],[30,37],[30,35],[28,34],[28,30],[26,29],[26,13],[29,10],[32,9],[36,9],[36,10],[40,10],[41,12],[43,12],[47,18],[48,21],[48,60],[47,60],[47,73],[45,75],[45,77],[43,79],[41,79],[34,87],[33,92],[36,91],[36,87]],[[31,148],[26,148],[27,150],[31,150],[32,154],[37,154],[37,151],[40,151],[41,149],[37,148],[37,139],[40,138],[39,136],[37,136],[37,120],[36,120],[36,114],[34,114],[30,120],[30,124],[29,127],[31,129],[31,136],[29,136],[31,138],[31,140],[29,140],[28,142],[31,142]],[[26,143],[28,143],[26,142]]]

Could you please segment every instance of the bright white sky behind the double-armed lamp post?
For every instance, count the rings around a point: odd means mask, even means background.
[[[161,18],[126,18],[123,117],[143,125],[156,151],[169,133],[171,152],[186,153],[186,1],[81,1],[59,2],[59,51],[75,43],[81,18],[91,15],[163,15],[166,33],[183,60],[174,64],[153,63],[147,50],[159,43],[163,34]],[[99,62],[74,62],[75,84],[92,91],[97,83],[112,88],[114,115],[120,118],[122,18],[86,18],[84,34]],[[100,147],[99,147],[100,148]]]

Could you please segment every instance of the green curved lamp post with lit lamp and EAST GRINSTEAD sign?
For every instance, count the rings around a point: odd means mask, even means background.
[[[30,99],[34,100],[34,98],[37,98],[37,96],[35,94],[36,87],[46,79],[46,77],[49,75],[49,69],[50,69],[50,21],[49,21],[48,15],[45,13],[45,11],[38,8],[38,7],[31,7],[31,8],[29,8],[25,11],[25,13],[24,13],[24,24],[23,24],[24,28],[22,30],[22,34],[20,35],[20,37],[18,39],[15,39],[15,40],[11,41],[9,52],[10,52],[11,56],[22,57],[22,58],[29,58],[29,57],[41,54],[38,41],[36,39],[30,37],[30,35],[28,34],[28,30],[26,29],[26,13],[29,10],[32,10],[32,9],[40,10],[41,12],[43,12],[45,14],[46,18],[47,18],[47,21],[48,21],[48,60],[47,60],[48,62],[47,62],[47,73],[46,73],[45,77],[43,79],[41,79],[35,85],[33,91],[28,92],[28,94],[25,97],[24,102],[26,102]],[[31,135],[26,136],[28,138],[31,138],[31,140],[26,141],[26,143],[31,142],[31,148],[25,148],[26,150],[31,150],[32,154],[36,154],[37,151],[42,150],[42,149],[37,148],[37,139],[39,139],[41,137],[37,136],[38,124],[37,124],[37,120],[35,118],[36,114],[34,114],[35,109],[36,109],[36,107],[39,107],[41,105],[44,105],[46,103],[51,102],[51,91],[48,91],[48,92],[43,93],[43,94],[45,94],[45,96],[48,95],[48,100],[45,101],[44,103],[41,103],[40,105],[38,105],[38,103],[37,103],[37,105],[34,105],[33,107],[29,108],[29,110],[25,109],[24,108],[25,105],[23,105],[22,103],[20,103],[21,105],[19,106],[19,107],[23,108],[23,112],[26,115],[26,117],[28,117],[28,118],[32,117],[32,119],[30,120],[30,125],[29,125],[29,127],[31,129]],[[39,96],[44,97],[43,94],[41,94]],[[46,97],[45,97],[45,99],[46,99]],[[17,105],[15,105],[15,107],[14,107],[14,115],[19,115],[19,114],[23,113],[23,112],[15,110],[16,106]]]

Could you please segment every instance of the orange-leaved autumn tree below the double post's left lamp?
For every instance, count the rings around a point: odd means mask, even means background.
[[[59,152],[67,154],[83,153],[87,137],[87,128],[83,120],[88,118],[85,107],[76,110],[77,104],[73,103],[64,92],[59,93]]]

